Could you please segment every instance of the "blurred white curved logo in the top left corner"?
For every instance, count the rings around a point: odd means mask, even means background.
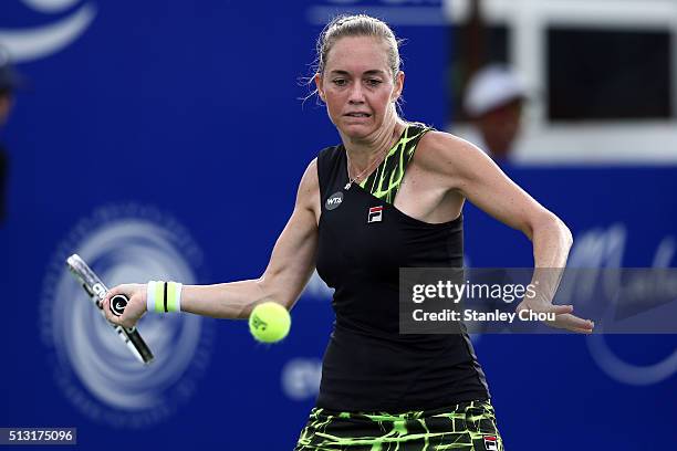
[[[22,1],[38,12],[58,13],[73,7],[79,0]],[[7,48],[15,63],[45,57],[65,49],[80,38],[95,15],[96,7],[85,3],[72,14],[48,25],[29,29],[2,28],[0,43]]]

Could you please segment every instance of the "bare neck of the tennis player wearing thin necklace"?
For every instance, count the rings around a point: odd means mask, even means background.
[[[376,160],[382,159],[399,138],[405,127],[406,124],[396,118],[387,126],[378,128],[374,134],[364,138],[353,139],[341,134],[343,147],[345,147],[351,161],[351,169],[355,172],[353,175],[364,171],[373,166]]]

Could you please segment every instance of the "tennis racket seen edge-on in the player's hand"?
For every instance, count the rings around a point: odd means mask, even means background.
[[[82,283],[82,287],[87,292],[87,294],[92,297],[92,302],[94,305],[98,307],[101,314],[106,316],[103,311],[103,300],[108,292],[108,289],[104,283],[98,279],[96,273],[87,266],[87,264],[80,258],[77,254],[73,254],[67,258],[66,264],[69,270],[73,273],[75,277]],[[124,312],[127,305],[127,297],[117,294],[111,298],[111,312],[114,315],[119,316]],[[106,321],[107,322],[107,321]],[[107,322],[108,323],[108,322]],[[136,327],[123,327],[115,325],[113,323],[108,323],[117,333],[117,336],[127,345],[132,354],[136,356],[144,364],[149,364],[153,361],[153,353],[146,345],[146,342],[142,338]]]

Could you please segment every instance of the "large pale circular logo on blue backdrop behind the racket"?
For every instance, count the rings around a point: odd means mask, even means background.
[[[142,365],[69,273],[77,252],[108,286],[148,280],[199,283],[202,253],[173,218],[136,204],[83,219],[59,247],[43,283],[40,331],[56,385],[84,416],[115,428],[156,424],[192,397],[212,353],[213,322],[152,315],[138,331],[155,354]]]

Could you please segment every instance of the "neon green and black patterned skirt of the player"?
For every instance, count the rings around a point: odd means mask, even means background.
[[[311,411],[294,451],[503,451],[489,401],[386,412]]]

